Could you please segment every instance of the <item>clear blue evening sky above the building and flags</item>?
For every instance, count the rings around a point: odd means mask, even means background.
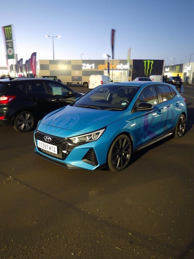
[[[1,26],[13,24],[18,59],[37,52],[37,60],[105,59],[111,55],[110,31],[116,30],[115,59],[165,59],[189,62],[194,53],[193,0],[34,0],[1,3]],[[191,55],[194,62],[194,55]],[[2,32],[0,66],[6,64]]]

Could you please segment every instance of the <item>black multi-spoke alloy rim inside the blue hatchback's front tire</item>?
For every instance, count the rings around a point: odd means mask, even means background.
[[[131,145],[128,139],[120,138],[116,141],[112,150],[112,162],[116,168],[125,167],[129,162]]]

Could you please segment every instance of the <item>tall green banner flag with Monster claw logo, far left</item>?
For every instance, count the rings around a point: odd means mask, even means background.
[[[6,55],[8,59],[14,59],[13,38],[11,24],[2,27],[3,35],[5,37]]]

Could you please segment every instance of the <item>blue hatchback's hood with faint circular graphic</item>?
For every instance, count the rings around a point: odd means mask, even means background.
[[[123,111],[106,111],[67,105],[47,114],[42,124],[71,131],[91,132],[123,117]]]

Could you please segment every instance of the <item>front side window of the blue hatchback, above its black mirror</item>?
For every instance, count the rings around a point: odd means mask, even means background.
[[[141,91],[137,101],[138,101],[138,103],[146,102],[146,103],[150,103],[152,105],[157,104],[158,103],[158,95],[156,93],[155,86],[149,85],[146,88],[144,88]]]

